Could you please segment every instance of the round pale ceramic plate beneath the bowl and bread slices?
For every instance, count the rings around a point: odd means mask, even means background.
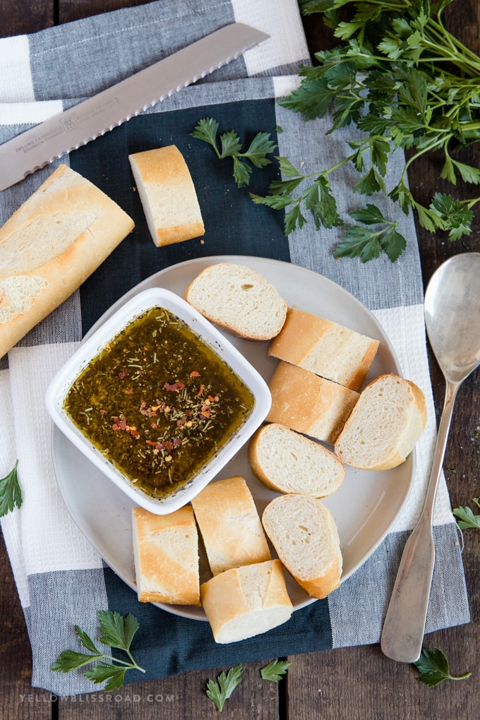
[[[145,279],[118,300],[91,328],[89,335],[130,297],[149,287],[165,287],[179,295],[208,265],[230,262],[248,265],[273,283],[292,307],[321,315],[359,333],[377,338],[379,351],[366,382],[380,374],[401,375],[397,358],[381,325],[372,313],[353,295],[331,280],[310,270],[281,261],[244,256],[215,256],[187,261],[162,270]],[[268,357],[268,343],[255,343],[227,336],[267,380],[277,361]],[[52,452],[60,492],[73,520],[119,577],[135,589],[132,555],[132,501],[91,464],[67,438],[53,427]],[[414,454],[399,467],[367,472],[347,467],[343,485],[324,500],[335,517],[343,553],[342,580],[366,561],[384,539],[407,499],[414,475]],[[222,470],[220,477],[240,474],[245,477],[262,513],[276,496],[256,480],[248,464],[248,450],[243,448]],[[287,587],[294,608],[314,600],[286,573]],[[204,611],[193,606],[168,606],[164,610],[176,615],[206,620]]]

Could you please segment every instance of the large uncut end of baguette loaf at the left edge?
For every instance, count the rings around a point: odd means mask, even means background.
[[[133,228],[60,165],[0,228],[0,357],[72,294]]]

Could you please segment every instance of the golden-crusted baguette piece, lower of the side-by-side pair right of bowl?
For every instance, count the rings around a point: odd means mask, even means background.
[[[359,393],[281,360],[270,382],[270,423],[334,444]]]

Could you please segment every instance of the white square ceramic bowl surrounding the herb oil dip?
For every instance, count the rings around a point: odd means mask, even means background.
[[[71,386],[76,382],[83,369],[96,358],[102,348],[112,341],[135,318],[152,307],[168,310],[209,346],[220,359],[248,387],[253,395],[253,408],[240,427],[219,447],[203,467],[185,485],[173,490],[165,498],[152,498],[101,454],[101,451],[87,438],[65,412],[64,403]],[[240,448],[261,426],[271,407],[271,395],[268,385],[255,368],[243,357],[225,336],[214,328],[194,307],[173,292],[163,288],[151,288],[140,292],[126,302],[86,341],[55,375],[47,388],[45,396],[47,411],[53,422],[101,472],[109,477],[126,495],[145,510],[164,515],[178,510],[197,495],[212,478],[232,459]],[[92,498],[94,501],[94,498]]]

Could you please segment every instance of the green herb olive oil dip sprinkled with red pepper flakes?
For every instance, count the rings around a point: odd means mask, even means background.
[[[243,424],[253,395],[182,320],[153,307],[83,369],[63,407],[130,482],[165,498]]]

